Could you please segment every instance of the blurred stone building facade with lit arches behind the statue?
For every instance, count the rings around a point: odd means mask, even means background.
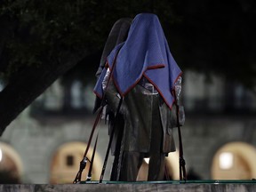
[[[256,97],[224,77],[184,72],[182,102],[186,122],[181,127],[184,158],[190,180],[251,180],[256,156]],[[67,99],[68,98],[68,99]],[[67,90],[57,81],[10,124],[0,138],[0,172],[12,172],[22,183],[72,183],[92,131],[92,85],[73,82]],[[99,141],[92,180],[100,179],[108,146],[108,126],[98,126]],[[98,131],[96,131],[98,132]],[[179,180],[177,152],[166,159],[172,180]],[[93,138],[94,140],[94,138]],[[92,156],[92,146],[88,158]],[[109,179],[112,156],[104,180]],[[86,180],[90,162],[83,179]],[[145,180],[147,161],[138,180]]]

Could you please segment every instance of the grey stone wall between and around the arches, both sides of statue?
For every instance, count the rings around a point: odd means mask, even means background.
[[[0,141],[10,144],[19,153],[23,163],[23,183],[47,184],[53,153],[63,143],[86,142],[93,121],[93,117],[35,120],[21,115],[7,128]],[[244,141],[255,146],[255,124],[255,120],[250,117],[187,116],[185,126],[181,129],[187,170],[193,168],[202,180],[211,180],[212,157],[216,151],[232,141]],[[177,130],[174,134],[179,148]],[[102,161],[107,143],[108,128],[100,124],[98,153]],[[108,180],[110,167],[111,158],[108,160],[105,180]]]

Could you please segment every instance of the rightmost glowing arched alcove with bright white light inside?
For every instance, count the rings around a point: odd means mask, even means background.
[[[244,142],[221,147],[212,159],[213,180],[251,180],[256,177],[256,148]]]

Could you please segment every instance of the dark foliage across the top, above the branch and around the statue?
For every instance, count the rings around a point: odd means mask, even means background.
[[[252,86],[255,4],[252,0],[2,0],[0,25],[6,27],[0,31],[0,76],[12,76],[24,66],[42,65],[67,52],[86,52],[100,60],[116,20],[154,12],[183,70],[215,72]],[[94,76],[90,60],[80,64],[83,67],[76,72]]]

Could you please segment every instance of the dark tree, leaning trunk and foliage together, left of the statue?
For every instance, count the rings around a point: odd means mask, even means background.
[[[169,7],[167,2],[2,1],[0,76],[4,90],[0,92],[0,135],[24,108],[57,78],[71,73],[69,69],[77,63],[84,62],[87,81],[94,79],[98,52],[117,19],[150,12],[153,7],[160,12],[163,6]],[[86,58],[90,55],[99,58],[89,63]]]

